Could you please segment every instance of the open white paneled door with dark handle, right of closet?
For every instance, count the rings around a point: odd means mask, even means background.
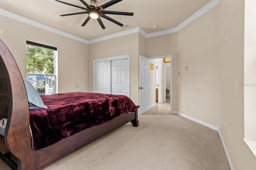
[[[140,55],[140,114],[150,110],[150,59]]]

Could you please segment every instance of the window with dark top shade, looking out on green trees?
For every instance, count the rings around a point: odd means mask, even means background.
[[[27,41],[27,80],[38,94],[56,92],[57,48]]]

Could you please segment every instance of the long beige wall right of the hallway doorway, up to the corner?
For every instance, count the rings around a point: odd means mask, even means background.
[[[177,33],[177,111],[214,126],[220,124],[218,20],[214,7]]]

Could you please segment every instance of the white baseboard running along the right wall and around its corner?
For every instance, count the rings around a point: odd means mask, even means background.
[[[228,159],[228,164],[229,164],[229,166],[230,166],[230,170],[234,170],[233,165],[232,165],[232,162],[231,162],[230,157],[229,157],[229,155],[228,155],[228,150],[227,150],[227,148],[226,148],[226,145],[225,145],[224,140],[223,140],[223,138],[222,138],[222,135],[221,135],[221,133],[220,133],[220,129],[219,129],[218,127],[213,126],[213,125],[210,125],[210,124],[205,123],[205,122],[203,122],[203,121],[200,121],[200,120],[198,120],[198,119],[194,119],[193,117],[190,117],[190,116],[188,116],[188,115],[184,115],[184,114],[182,114],[182,113],[179,113],[178,111],[172,111],[172,113],[178,114],[178,115],[180,115],[180,116],[182,116],[182,117],[185,117],[185,118],[187,118],[187,119],[190,119],[190,120],[192,120],[192,121],[195,121],[195,122],[197,122],[197,123],[200,123],[200,124],[202,124],[202,125],[204,125],[204,126],[210,127],[211,129],[213,129],[213,130],[215,130],[215,131],[218,131],[218,134],[219,134],[219,136],[220,136],[221,143],[222,143],[222,145],[223,145],[224,151],[225,151],[226,156],[227,156],[227,159]]]

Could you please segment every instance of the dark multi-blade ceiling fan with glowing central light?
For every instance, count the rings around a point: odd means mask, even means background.
[[[109,2],[101,5],[101,6],[97,6],[97,0],[92,0],[92,5],[88,5],[86,2],[84,2],[84,0],[80,0],[85,6],[81,7],[81,6],[76,6],[74,4],[69,4],[67,2],[62,2],[60,0],[54,0],[57,2],[60,2],[62,4],[66,4],[66,5],[70,5],[70,6],[74,6],[76,8],[80,8],[85,10],[84,12],[76,12],[76,13],[71,13],[71,14],[64,14],[64,15],[60,15],[60,16],[71,16],[71,15],[77,15],[77,14],[88,14],[89,16],[86,18],[86,20],[84,21],[84,23],[81,26],[84,26],[91,18],[97,19],[98,22],[100,23],[100,26],[102,27],[102,29],[105,29],[104,24],[102,23],[102,20],[100,19],[100,17],[105,18],[113,23],[116,23],[117,25],[120,25],[121,27],[124,25],[108,16],[106,16],[105,14],[115,14],[115,15],[124,15],[124,16],[133,16],[133,12],[119,12],[119,11],[106,11],[104,10],[105,8],[108,8],[109,6],[112,6],[122,0],[110,0]]]

